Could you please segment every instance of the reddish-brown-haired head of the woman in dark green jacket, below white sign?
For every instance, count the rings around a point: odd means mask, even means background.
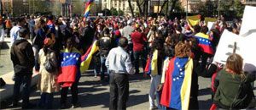
[[[243,59],[239,54],[233,53],[227,59],[225,68],[234,71],[236,74],[242,74]]]

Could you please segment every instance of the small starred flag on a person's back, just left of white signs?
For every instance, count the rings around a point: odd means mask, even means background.
[[[206,52],[208,54],[213,54],[213,47],[212,47],[212,41],[210,39],[210,36],[198,33],[195,35],[195,38],[198,40],[198,46],[201,47],[202,52]]]

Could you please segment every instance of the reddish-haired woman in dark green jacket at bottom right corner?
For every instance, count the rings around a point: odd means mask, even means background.
[[[242,70],[243,59],[239,54],[233,53],[227,58],[224,69],[218,72],[214,80],[217,88],[213,103],[217,108],[244,109],[255,107],[255,96],[251,82],[256,74],[245,73]]]

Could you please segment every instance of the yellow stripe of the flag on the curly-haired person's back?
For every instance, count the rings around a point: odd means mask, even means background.
[[[192,71],[193,71],[193,59],[189,58],[188,63],[185,66],[185,77],[183,80],[183,85],[180,90],[182,109],[189,109],[189,98],[190,98],[190,90],[191,90],[191,82],[192,82]]]

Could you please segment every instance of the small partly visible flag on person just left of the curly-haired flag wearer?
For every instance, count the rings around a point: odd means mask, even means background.
[[[158,51],[154,50],[153,55],[148,58],[144,72],[147,74],[157,74],[157,55]]]

